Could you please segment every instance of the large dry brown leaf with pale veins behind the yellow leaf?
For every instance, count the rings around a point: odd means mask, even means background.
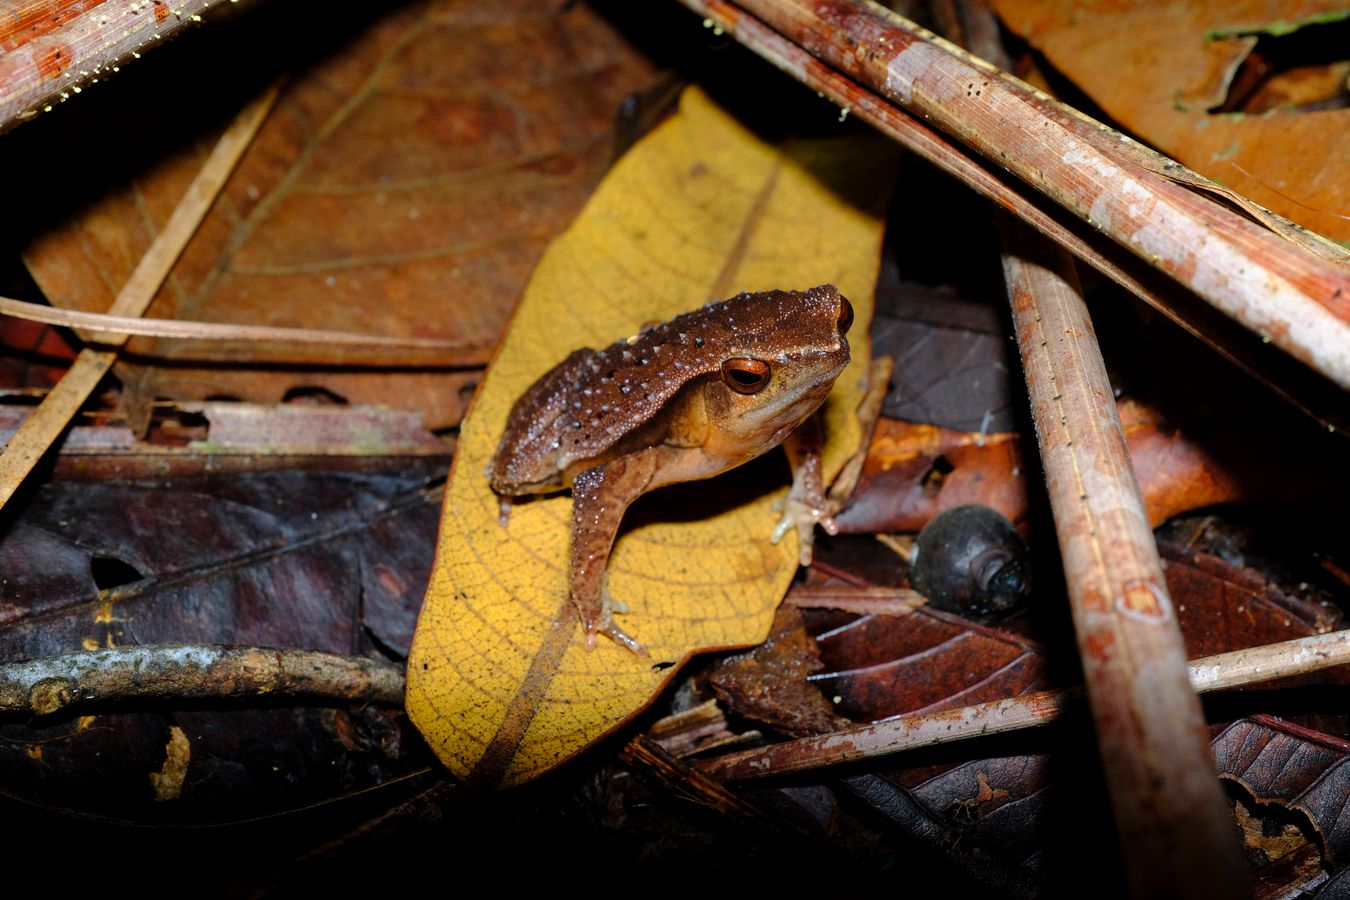
[[[649,72],[585,4],[414,4],[385,15],[293,80],[147,314],[490,347],[547,242],[603,173],[614,111]],[[166,134],[163,99],[146,101],[142,113],[119,109],[117,127],[154,134],[154,147],[185,139]],[[62,204],[80,212],[24,250],[53,304],[105,310],[200,165],[189,147],[142,170],[144,148],[123,161],[138,174],[88,206],[112,163],[53,166],[61,190],[45,181],[34,202],[47,215]],[[196,359],[212,348],[134,340],[128,351]],[[320,387],[352,403],[420,409],[431,428],[459,420],[477,379],[181,362],[117,371],[146,398],[270,403]]]

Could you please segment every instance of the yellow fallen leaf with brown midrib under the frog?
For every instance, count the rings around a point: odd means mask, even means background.
[[[861,440],[853,412],[894,161],[878,140],[765,144],[690,89],[549,247],[464,420],[408,660],[409,715],[455,775],[535,777],[641,710],[671,664],[764,640],[796,569],[794,536],[768,542],[786,474],[780,488],[742,497],[732,486],[745,470],[733,470],[629,513],[609,590],[628,606],[620,625],[651,652],[641,658],[609,640],[583,646],[567,600],[571,498],[518,503],[502,528],[483,470],[516,398],[578,347],[741,290],[833,282],[857,313],[853,362],[826,401],[833,478]],[[670,505],[695,495],[706,517],[671,521]]]

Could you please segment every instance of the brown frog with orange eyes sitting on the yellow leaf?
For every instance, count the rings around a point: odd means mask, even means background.
[[[648,491],[721,475],[786,441],[792,487],[770,540],[795,529],[805,565],[815,526],[836,533],[813,416],[849,363],[852,322],[833,285],[742,291],[576,349],[516,399],[487,480],[502,526],[513,499],[571,490],[568,599],[587,649],[603,634],[647,656],[614,621],[625,607],[606,567],[625,511]]]

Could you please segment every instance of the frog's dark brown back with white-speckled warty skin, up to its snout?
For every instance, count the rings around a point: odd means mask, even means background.
[[[775,354],[803,304],[838,302],[809,291],[740,294],[648,328],[605,349],[579,349],[535,382],[512,407],[489,468],[494,491],[560,490],[570,475],[605,461],[675,395],[720,371],[729,356]]]

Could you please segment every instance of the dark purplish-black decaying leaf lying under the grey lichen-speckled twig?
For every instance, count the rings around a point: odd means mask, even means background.
[[[22,560],[0,584],[0,658],[159,642],[398,658],[431,567],[439,497],[428,479],[439,474],[45,484],[0,536],[0,560]],[[221,820],[428,762],[402,714],[375,707],[277,699],[81,712],[92,715],[0,722],[7,793],[115,818]],[[150,776],[174,757],[185,772],[155,801]]]

